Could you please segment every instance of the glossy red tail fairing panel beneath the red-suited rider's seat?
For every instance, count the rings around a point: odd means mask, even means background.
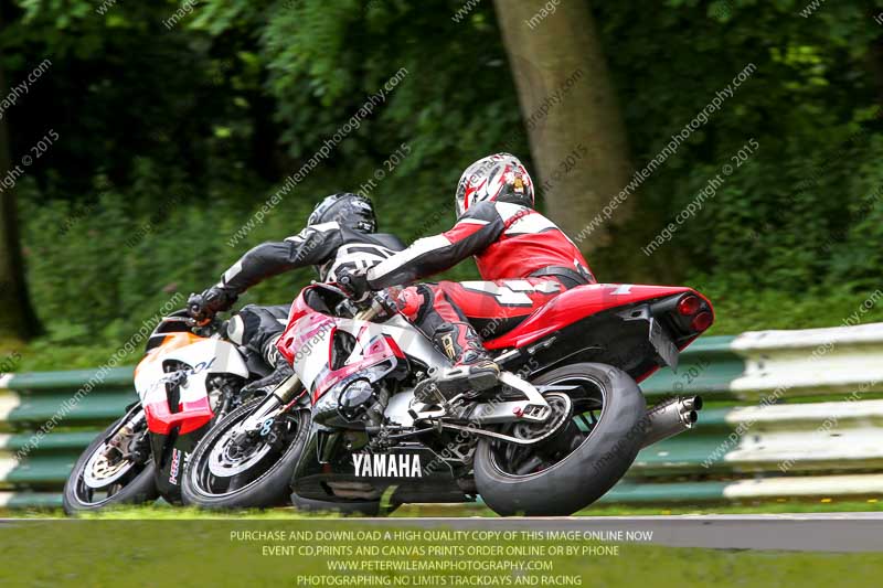
[[[681,286],[639,286],[629,284],[592,284],[567,290],[536,310],[504,335],[486,341],[488,349],[522,348],[587,317],[667,296],[691,292],[708,299],[691,288]],[[711,308],[711,302],[709,302]]]

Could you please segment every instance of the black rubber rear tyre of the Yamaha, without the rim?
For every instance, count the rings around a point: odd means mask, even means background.
[[[610,490],[641,448],[646,403],[628,374],[605,364],[578,363],[543,374],[532,384],[565,382],[591,383],[603,399],[591,432],[566,457],[540,471],[513,474],[498,463],[504,461],[502,446],[509,443],[487,438],[478,443],[476,487],[485,503],[502,516],[573,514]]]

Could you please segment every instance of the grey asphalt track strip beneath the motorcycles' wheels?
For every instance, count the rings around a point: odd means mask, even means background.
[[[60,524],[88,524],[74,518],[52,520]],[[227,520],[232,522],[236,520]],[[46,523],[46,518],[3,518],[3,526]],[[120,521],[117,521],[119,523]],[[168,522],[168,521],[167,521]],[[182,520],[181,523],[192,521]],[[205,522],[205,521],[202,521]],[[301,520],[302,522],[302,520]],[[100,521],[95,521],[100,523]],[[223,523],[223,521],[219,521]],[[284,527],[286,521],[273,523]],[[641,544],[714,549],[786,552],[883,552],[883,513],[800,514],[709,514],[671,516],[568,516],[568,517],[413,517],[339,518],[337,530],[347,525],[418,527],[450,531],[578,531],[608,534],[642,532]],[[651,534],[650,534],[651,533]],[[611,536],[611,535],[608,535]],[[628,541],[602,541],[629,543]],[[638,542],[635,542],[638,543]]]

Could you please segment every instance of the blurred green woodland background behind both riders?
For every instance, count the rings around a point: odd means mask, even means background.
[[[51,62],[3,111],[11,161],[57,133],[14,185],[30,298],[44,327],[24,349],[25,366],[103,362],[174,292],[201,290],[244,250],[299,231],[328,193],[362,186],[382,228],[407,240],[447,229],[461,170],[489,152],[524,159],[540,206],[547,200],[568,228],[587,225],[597,204],[562,209],[562,197],[579,199],[565,190],[571,171],[556,186],[540,160],[543,132],[550,141],[561,132],[554,120],[595,116],[591,90],[604,81],[585,75],[564,92],[545,75],[543,55],[507,47],[515,38],[497,13],[507,1],[0,0],[7,85]],[[594,28],[555,21],[566,17],[563,2],[585,4],[567,14],[592,14]],[[600,281],[699,287],[717,304],[717,334],[839,324],[881,286],[883,26],[874,17],[883,4],[829,2],[808,17],[804,0],[535,4],[549,15],[525,22],[530,34],[579,31],[606,61],[605,96],[625,132],[610,150],[627,150],[629,180],[756,66],[641,183],[629,210],[581,242]],[[402,68],[385,103],[230,246]],[[558,90],[549,128],[531,121],[528,105]],[[752,139],[756,153],[648,264],[641,247]],[[605,153],[610,141],[573,138],[588,153]],[[387,164],[402,143],[407,154]],[[575,168],[597,167],[597,157]],[[377,169],[384,178],[371,188]],[[290,300],[311,277],[278,277],[243,302]],[[874,309],[865,320],[881,317]]]

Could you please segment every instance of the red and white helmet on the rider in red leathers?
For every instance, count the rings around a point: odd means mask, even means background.
[[[533,180],[515,156],[494,153],[466,168],[456,197],[457,217],[485,201],[533,207]]]

